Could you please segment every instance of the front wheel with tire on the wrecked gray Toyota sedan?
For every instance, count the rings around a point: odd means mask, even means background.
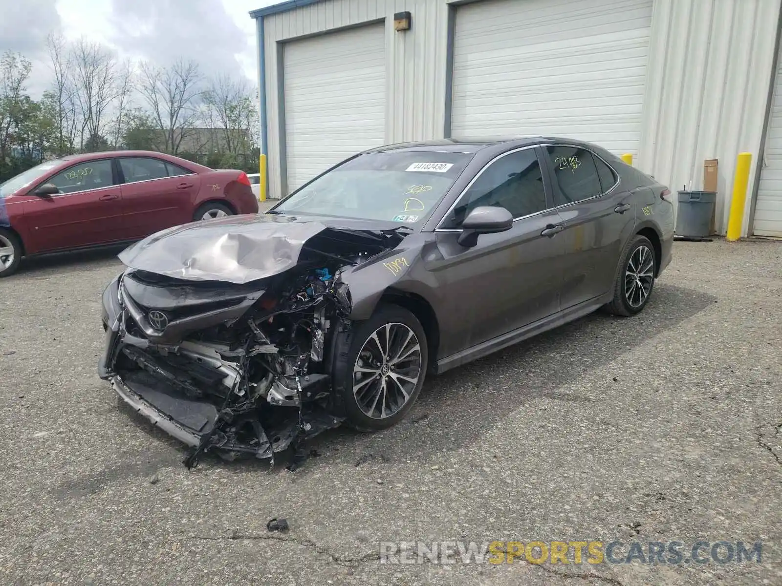
[[[391,331],[392,343],[381,364],[386,331]],[[400,348],[405,339],[407,344]],[[347,423],[358,431],[379,431],[404,419],[421,392],[429,366],[426,334],[415,316],[400,306],[378,306],[370,319],[354,324],[340,345],[332,375]],[[394,363],[387,358],[395,355],[402,359]]]

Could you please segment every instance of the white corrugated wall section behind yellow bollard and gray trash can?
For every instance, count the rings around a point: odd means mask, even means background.
[[[655,0],[637,166],[672,191],[701,189],[704,159],[719,159],[720,234],[739,152],[755,180],[779,19],[780,0]]]

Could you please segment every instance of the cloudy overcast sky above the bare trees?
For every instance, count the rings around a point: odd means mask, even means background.
[[[48,83],[45,39],[52,30],[84,36],[122,57],[165,65],[184,56],[203,73],[244,73],[256,82],[255,21],[249,11],[280,0],[9,0],[0,18],[0,52],[34,62],[31,93]]]

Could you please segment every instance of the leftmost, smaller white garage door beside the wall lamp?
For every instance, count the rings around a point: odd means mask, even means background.
[[[288,191],[386,137],[382,24],[292,41],[285,63]]]

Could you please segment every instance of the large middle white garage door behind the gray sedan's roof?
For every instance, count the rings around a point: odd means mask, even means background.
[[[637,154],[652,0],[457,9],[454,138],[553,135]]]

